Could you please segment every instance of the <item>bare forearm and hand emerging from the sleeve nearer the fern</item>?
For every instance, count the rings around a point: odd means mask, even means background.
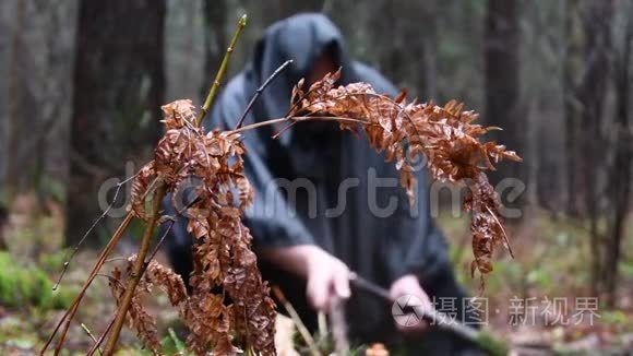
[[[315,309],[327,312],[333,302],[349,298],[347,265],[313,245],[260,249],[260,256],[308,281],[306,295]]]

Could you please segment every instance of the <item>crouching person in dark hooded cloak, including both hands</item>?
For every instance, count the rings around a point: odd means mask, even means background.
[[[205,127],[232,129],[258,87],[288,59],[292,64],[261,94],[247,124],[284,117],[291,88],[301,78],[309,84],[338,68],[342,85],[366,82],[378,93],[397,94],[375,70],[349,58],[330,20],[299,14],[265,31],[252,60],[216,100]],[[417,165],[418,193],[410,206],[394,165],[361,138],[337,124],[301,122],[273,140],[279,129],[266,126],[243,134],[244,168],[255,190],[244,223],[264,280],[280,287],[308,328],[316,325],[315,309],[327,311],[332,300],[348,298],[350,340],[391,344],[411,335],[398,332],[407,328],[394,323],[391,305],[361,290],[350,294],[350,271],[390,289],[394,299],[413,295],[428,306],[430,298],[453,298],[453,311],[461,319],[465,295],[430,217],[425,162]],[[168,254],[187,278],[192,266],[186,224],[177,224],[172,235]],[[433,353],[454,354],[464,346],[434,328],[409,336]]]

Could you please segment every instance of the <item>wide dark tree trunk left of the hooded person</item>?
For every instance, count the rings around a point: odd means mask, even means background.
[[[98,215],[99,185],[160,135],[164,0],[82,0],[74,69],[68,244]]]

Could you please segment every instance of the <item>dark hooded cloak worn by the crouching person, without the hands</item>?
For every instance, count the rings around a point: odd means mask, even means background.
[[[343,37],[330,20],[301,14],[266,29],[252,61],[226,85],[205,127],[232,129],[255,90],[278,66],[294,59],[262,94],[246,124],[283,117],[289,108],[292,85],[307,76],[324,50],[330,50],[343,68],[341,84],[361,81],[379,93],[396,94],[377,71],[349,59]],[[302,122],[272,140],[278,128],[244,133],[246,171],[255,189],[254,206],[247,213],[246,223],[255,249],[318,245],[384,287],[406,273],[417,274],[422,285],[430,283],[447,265],[444,239],[429,215],[423,168],[417,173],[420,188],[416,206],[410,209],[394,164],[373,152],[366,138],[341,132],[333,123]],[[190,240],[183,225],[175,230],[170,244],[187,249]],[[308,313],[302,307],[302,281],[265,263],[262,270],[264,278],[299,299],[291,301]],[[393,323],[390,308],[368,297],[355,295],[347,311],[353,332]],[[306,318],[308,323],[313,320]]]

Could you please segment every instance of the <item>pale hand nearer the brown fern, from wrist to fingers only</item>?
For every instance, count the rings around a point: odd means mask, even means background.
[[[306,294],[315,309],[329,312],[333,302],[349,298],[349,269],[321,248],[308,256]]]

